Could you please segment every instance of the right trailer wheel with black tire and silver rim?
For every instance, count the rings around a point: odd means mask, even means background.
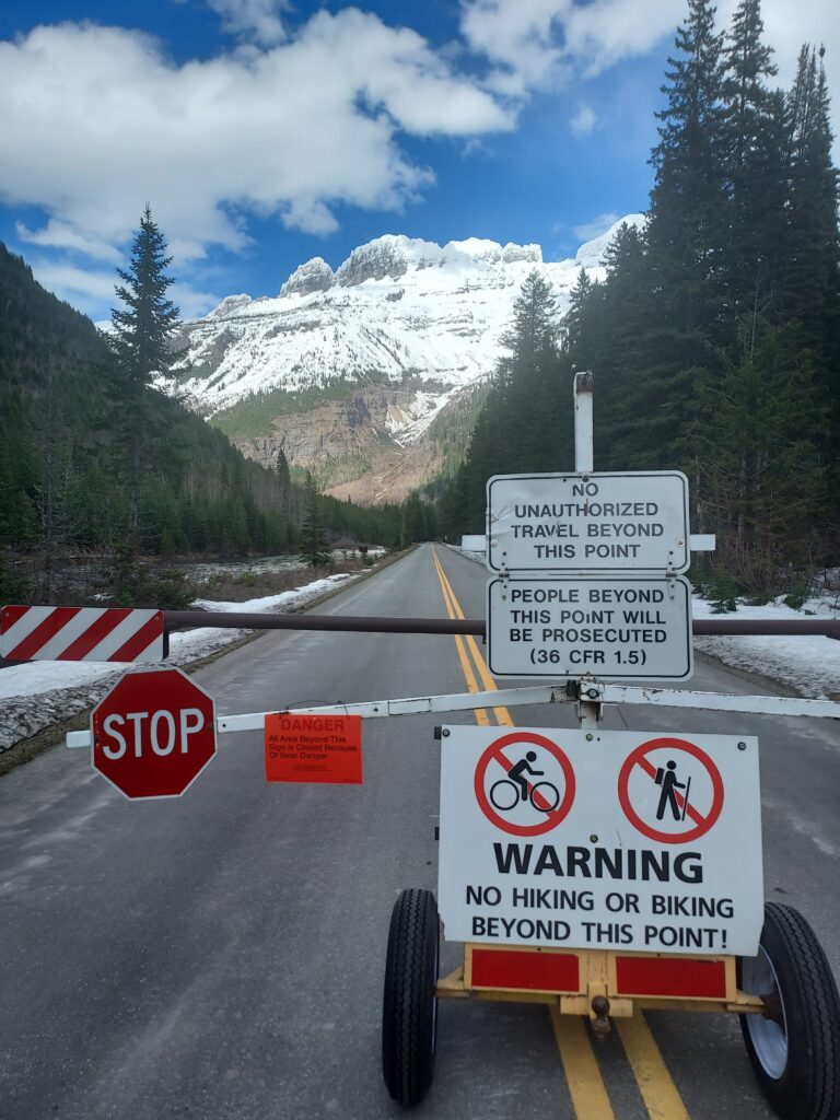
[[[740,1028],[773,1111],[782,1120],[837,1120],[840,998],[799,911],[766,904],[758,955],[738,959],[738,987],[765,999],[765,1014],[741,1015]]]

